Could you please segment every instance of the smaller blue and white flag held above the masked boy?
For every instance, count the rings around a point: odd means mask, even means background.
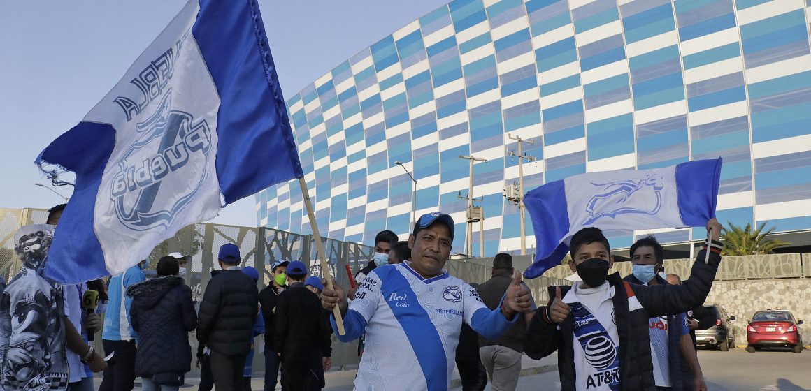
[[[704,226],[715,217],[721,159],[650,170],[589,172],[526,193],[537,255],[535,278],[560,264],[585,227],[633,230]]]

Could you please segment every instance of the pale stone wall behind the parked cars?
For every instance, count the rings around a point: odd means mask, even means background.
[[[781,308],[794,313],[800,325],[803,343],[811,343],[811,278],[786,278],[747,281],[715,281],[706,304],[721,304],[732,321],[736,342],[746,343],[746,325],[756,311]]]

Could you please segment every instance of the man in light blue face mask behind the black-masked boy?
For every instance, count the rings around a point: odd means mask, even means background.
[[[624,281],[647,286],[669,285],[661,276],[664,269],[662,244],[653,236],[637,240],[631,246],[630,256],[633,274]],[[706,389],[684,313],[650,318],[650,354],[656,389]]]

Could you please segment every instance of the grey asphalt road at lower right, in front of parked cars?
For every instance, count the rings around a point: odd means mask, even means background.
[[[710,391],[809,391],[811,351],[698,351]],[[489,387],[487,388],[489,389]],[[521,377],[517,390],[560,389],[558,372]]]

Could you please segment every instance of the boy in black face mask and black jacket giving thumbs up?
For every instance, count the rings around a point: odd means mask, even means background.
[[[558,351],[563,391],[654,391],[649,320],[686,312],[710,293],[721,261],[721,225],[710,219],[706,227],[710,240],[680,286],[637,285],[622,281],[619,273],[608,275],[614,257],[603,232],[596,227],[577,232],[569,244],[569,267],[582,283],[549,287],[549,304],[530,321],[526,354],[541,359]]]

